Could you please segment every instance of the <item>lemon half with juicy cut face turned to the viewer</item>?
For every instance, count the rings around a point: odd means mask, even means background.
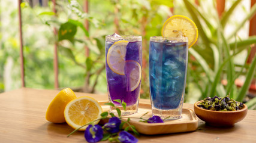
[[[64,110],[65,120],[73,129],[80,128],[94,120],[101,118],[102,113],[101,105],[98,101],[91,97],[79,97],[70,102]],[[100,120],[95,121],[97,124]],[[79,130],[85,130],[87,126]]]

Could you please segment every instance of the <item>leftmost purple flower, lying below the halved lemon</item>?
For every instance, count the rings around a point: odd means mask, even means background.
[[[100,125],[89,125],[85,130],[87,142],[98,142],[103,139],[103,129]]]

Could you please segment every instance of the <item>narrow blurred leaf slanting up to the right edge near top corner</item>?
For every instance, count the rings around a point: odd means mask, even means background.
[[[233,31],[233,33],[228,36],[228,39],[231,39],[236,33],[245,25],[246,21],[250,20],[256,13],[256,4],[254,4],[251,7],[251,11],[249,14],[246,15],[245,19],[239,24],[239,26],[236,27],[236,29]]]

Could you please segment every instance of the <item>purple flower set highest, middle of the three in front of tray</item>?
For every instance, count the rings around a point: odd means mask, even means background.
[[[110,133],[117,133],[119,132],[119,126],[121,124],[121,120],[118,117],[112,117],[109,119],[109,122],[106,123],[103,128]]]

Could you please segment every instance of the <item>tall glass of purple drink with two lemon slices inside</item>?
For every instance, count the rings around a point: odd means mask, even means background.
[[[141,36],[106,36],[106,73],[109,101],[122,111],[122,115],[134,114],[138,110],[140,96]],[[127,104],[126,110],[119,102]],[[110,107],[116,114],[116,110]]]

